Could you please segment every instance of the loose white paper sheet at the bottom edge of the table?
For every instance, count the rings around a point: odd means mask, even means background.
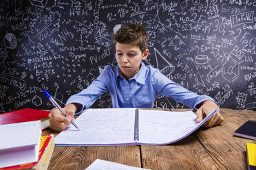
[[[116,162],[110,162],[107,160],[96,159],[87,169],[85,170],[147,170],[138,167],[131,167],[128,165],[122,165]]]

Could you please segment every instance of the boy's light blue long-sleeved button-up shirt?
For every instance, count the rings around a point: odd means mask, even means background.
[[[83,105],[82,109],[89,108],[107,90],[111,95],[113,108],[153,108],[158,95],[169,96],[189,108],[195,108],[208,99],[214,101],[209,96],[197,95],[183,88],[158,69],[141,62],[140,71],[129,80],[122,77],[118,66],[105,66],[98,78],[80,93],[72,95],[66,105],[78,103]]]

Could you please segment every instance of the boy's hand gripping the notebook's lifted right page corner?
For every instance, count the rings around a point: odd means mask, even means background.
[[[204,127],[213,127],[214,125],[219,125],[224,119],[222,115],[220,114],[220,108],[211,100],[206,100],[203,102],[202,106],[198,109],[196,113],[197,119],[196,123],[199,123],[206,117],[208,114],[210,114],[212,111],[217,110],[213,116],[204,123]]]

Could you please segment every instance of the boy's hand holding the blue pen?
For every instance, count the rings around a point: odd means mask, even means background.
[[[61,111],[57,108],[53,108],[49,114],[50,120],[50,128],[52,130],[61,132],[61,130],[65,130],[68,125],[71,124],[71,121],[74,121],[74,113],[76,112],[76,106],[74,104],[68,104],[65,108],[63,108],[66,117],[61,114]]]

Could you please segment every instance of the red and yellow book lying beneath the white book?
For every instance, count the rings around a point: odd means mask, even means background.
[[[53,150],[54,150],[54,136],[53,135],[41,136],[38,162],[32,162],[24,165],[13,166],[13,167],[5,167],[0,170],[17,170],[17,169],[46,170],[50,163]]]

